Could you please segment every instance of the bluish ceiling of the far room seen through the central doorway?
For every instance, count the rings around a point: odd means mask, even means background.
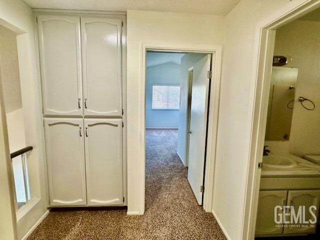
[[[147,52],[146,67],[152,67],[168,62],[180,64],[181,57],[184,53],[169,53],[169,52]]]

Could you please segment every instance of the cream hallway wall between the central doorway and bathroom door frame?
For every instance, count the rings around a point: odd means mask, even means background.
[[[224,18],[213,212],[231,240],[242,238],[254,91],[256,26],[302,0],[241,0]]]

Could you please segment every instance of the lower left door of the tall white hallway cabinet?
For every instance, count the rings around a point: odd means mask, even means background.
[[[83,120],[44,120],[50,206],[85,206]]]

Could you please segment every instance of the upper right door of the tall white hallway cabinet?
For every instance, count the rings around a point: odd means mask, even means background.
[[[121,19],[81,17],[84,114],[121,116]]]

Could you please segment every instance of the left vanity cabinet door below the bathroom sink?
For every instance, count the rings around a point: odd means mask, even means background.
[[[255,236],[282,234],[283,228],[277,228],[274,222],[274,208],[286,205],[287,191],[260,191]],[[282,214],[278,210],[277,214]]]

